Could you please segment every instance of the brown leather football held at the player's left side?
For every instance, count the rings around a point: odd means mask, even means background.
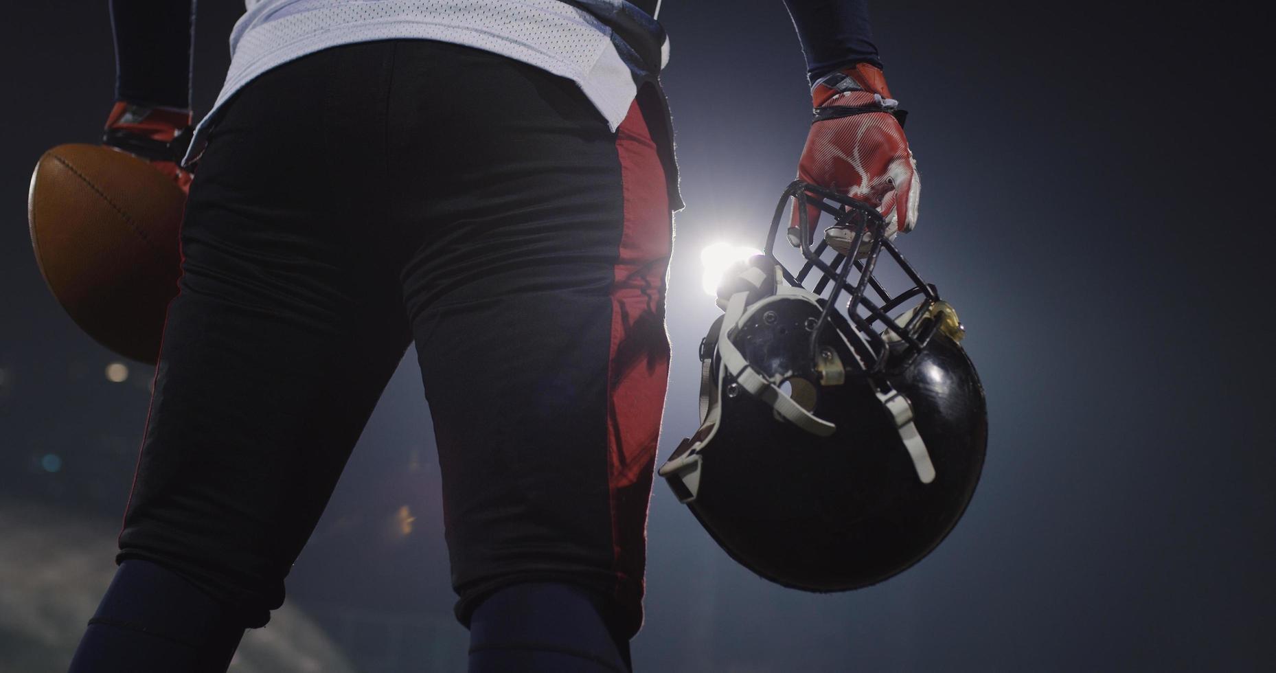
[[[102,146],[57,146],[31,176],[27,217],[45,282],[80,329],[125,358],[158,360],[185,203],[149,163]]]

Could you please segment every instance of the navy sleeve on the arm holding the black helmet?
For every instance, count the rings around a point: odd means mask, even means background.
[[[785,0],[806,54],[806,74],[814,84],[820,77],[856,63],[882,68],[868,0]]]

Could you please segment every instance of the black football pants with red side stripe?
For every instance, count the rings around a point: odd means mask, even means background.
[[[190,192],[119,559],[264,624],[415,342],[458,618],[564,581],[632,636],[669,363],[647,121],[614,133],[572,82],[430,41],[240,91]]]

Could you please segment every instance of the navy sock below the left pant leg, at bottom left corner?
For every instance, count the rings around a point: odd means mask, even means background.
[[[68,673],[223,673],[244,628],[208,594],[142,559],[120,564]]]

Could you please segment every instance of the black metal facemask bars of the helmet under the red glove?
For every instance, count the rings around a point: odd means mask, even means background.
[[[801,249],[806,263],[796,277],[790,278],[787,273],[785,273],[785,277],[795,286],[801,287],[803,281],[806,280],[812,271],[819,269],[820,272],[813,291],[820,296],[820,304],[824,310],[820,313],[819,321],[812,331],[812,359],[817,359],[819,335],[824,324],[832,321],[842,329],[849,329],[854,324],[855,331],[864,337],[863,341],[856,338],[849,340],[861,360],[861,363],[857,363],[860,370],[849,372],[850,374],[861,373],[873,375],[883,373],[887,369],[887,360],[891,351],[883,338],[883,333],[886,332],[889,332],[905,345],[902,352],[898,352],[897,358],[892,359],[891,368],[906,367],[912,360],[912,356],[921,351],[935,333],[937,321],[926,319],[930,306],[939,301],[939,292],[935,286],[923,281],[912,269],[912,266],[900,254],[894,244],[887,240],[887,223],[882,213],[851,197],[801,180],[792,181],[780,197],[775,217],[771,220],[771,231],[767,235],[763,248],[763,253],[767,257],[775,259],[776,236],[780,232],[780,222],[786,215],[790,199],[796,206],[798,225],[790,227],[789,238],[790,241],[796,239],[796,244]],[[829,249],[828,241],[820,240],[814,248],[810,246],[813,232],[810,218],[806,213],[808,206],[819,208],[819,211],[832,216],[833,223],[829,226],[847,226],[854,231],[846,254],[835,250],[833,259],[826,263],[820,257]],[[868,252],[860,254],[861,248],[865,245],[868,246]],[[877,267],[882,250],[886,250],[905,272],[912,284],[911,287],[897,295],[892,295],[873,277],[873,271]],[[855,269],[854,277],[851,276],[852,268]],[[828,290],[829,285],[832,285],[831,290]],[[827,298],[823,296],[826,290],[828,290]],[[865,296],[868,290],[872,290],[877,295],[877,301]],[[833,310],[838,296],[843,291],[849,295],[845,315]],[[912,312],[905,324],[898,324],[891,317],[891,313],[919,296],[921,298],[921,306]],[[851,324],[847,324],[847,319]]]

